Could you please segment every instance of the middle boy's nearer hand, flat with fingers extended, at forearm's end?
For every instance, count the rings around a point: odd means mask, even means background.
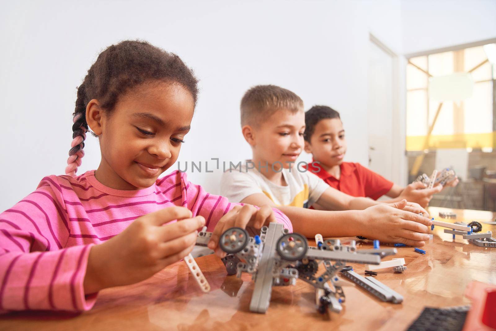
[[[432,221],[427,217],[386,204],[374,205],[357,212],[363,215],[363,232],[359,233],[361,236],[409,246],[424,246],[429,240],[427,233]]]

